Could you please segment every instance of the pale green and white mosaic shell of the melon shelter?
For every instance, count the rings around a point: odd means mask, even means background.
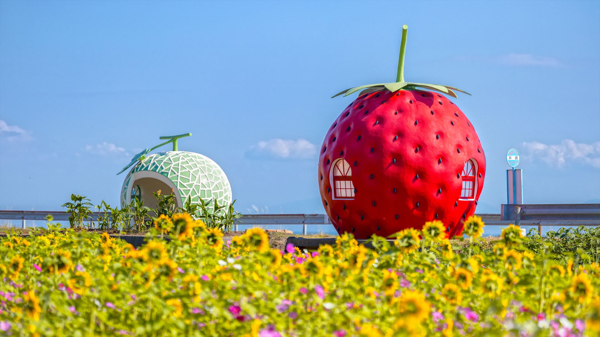
[[[186,151],[167,151],[149,155],[137,163],[125,177],[121,188],[121,207],[125,206],[127,189],[131,175],[138,171],[154,171],[171,180],[185,203],[191,197],[192,203],[217,198],[219,204],[232,201],[231,186],[227,176],[211,158]]]

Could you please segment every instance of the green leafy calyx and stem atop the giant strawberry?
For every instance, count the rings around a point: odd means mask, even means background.
[[[406,32],[408,31],[408,26],[402,26],[402,41],[400,43],[400,55],[398,56],[398,73],[396,76],[396,82],[391,83],[377,83],[372,85],[362,85],[356,86],[354,88],[346,89],[337,95],[332,96],[331,98],[337,97],[341,94],[344,94],[344,97],[347,95],[352,95],[353,93],[361,90],[360,95],[367,94],[369,92],[381,91],[387,89],[391,92],[396,92],[398,90],[433,90],[437,92],[441,92],[442,94],[450,95],[454,98],[458,98],[454,91],[460,91],[464,94],[470,95],[466,91],[462,91],[461,89],[454,88],[453,86],[447,85],[433,85],[428,83],[415,83],[415,82],[404,82],[404,52],[406,51]],[[421,88],[421,89],[419,89]]]

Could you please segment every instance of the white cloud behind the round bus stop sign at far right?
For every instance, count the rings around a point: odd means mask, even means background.
[[[523,146],[529,152],[525,158],[537,158],[558,167],[566,163],[580,163],[600,169],[600,142],[584,144],[565,139],[557,145],[524,142]]]

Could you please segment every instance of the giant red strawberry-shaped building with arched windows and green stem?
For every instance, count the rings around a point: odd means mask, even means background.
[[[335,95],[361,91],[320,149],[323,206],[338,233],[359,239],[434,219],[448,236],[460,234],[484,184],[485,155],[473,125],[437,93],[456,98],[454,91],[464,91],[404,82],[406,31],[404,25],[397,82]]]

